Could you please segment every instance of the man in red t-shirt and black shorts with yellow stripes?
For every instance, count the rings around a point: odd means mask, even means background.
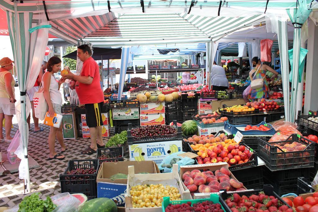
[[[75,90],[79,97],[79,103],[85,105],[86,124],[91,133],[91,145],[82,154],[93,154],[97,148],[105,148],[102,138],[101,108],[104,102],[104,93],[100,87],[99,67],[92,58],[91,48],[84,44],[77,47],[77,57],[83,61],[80,75],[72,72],[61,74],[65,79],[76,81]],[[96,142],[97,139],[97,142]]]

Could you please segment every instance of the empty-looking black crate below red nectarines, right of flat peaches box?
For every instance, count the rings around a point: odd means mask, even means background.
[[[263,188],[263,174],[261,167],[251,167],[248,170],[236,169],[231,171],[235,178],[242,182],[247,189]]]

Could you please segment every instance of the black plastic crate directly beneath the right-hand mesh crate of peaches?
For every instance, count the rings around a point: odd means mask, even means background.
[[[296,185],[298,177],[304,177],[309,180],[309,168],[294,168],[287,170],[280,170],[272,172],[267,167],[262,166],[264,181],[272,182],[275,187],[286,187],[289,185]]]

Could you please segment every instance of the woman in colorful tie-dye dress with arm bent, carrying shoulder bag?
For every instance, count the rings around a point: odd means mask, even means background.
[[[263,87],[257,89],[251,89],[251,94],[249,95],[248,99],[250,101],[259,101],[262,98],[268,97],[268,83],[266,80],[266,71],[272,72],[274,75],[271,79],[274,79],[278,72],[274,69],[269,67],[268,65],[261,64],[260,59],[258,57],[253,57],[252,59],[253,69],[250,71],[250,79],[253,81],[254,79],[264,79]]]

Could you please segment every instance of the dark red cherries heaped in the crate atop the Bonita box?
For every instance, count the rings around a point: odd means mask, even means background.
[[[156,135],[173,135],[176,133],[176,128],[169,125],[149,125],[131,130],[131,135],[138,138]]]

